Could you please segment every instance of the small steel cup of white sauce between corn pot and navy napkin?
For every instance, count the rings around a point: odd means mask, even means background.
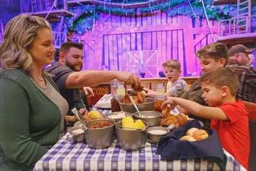
[[[153,132],[155,131],[155,133]],[[157,133],[156,131],[161,131]],[[166,135],[170,130],[168,128],[164,128],[162,126],[153,126],[148,128],[148,141],[152,144],[158,144],[160,138],[163,135]]]

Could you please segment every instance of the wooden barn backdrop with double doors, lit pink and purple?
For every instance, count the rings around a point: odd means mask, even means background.
[[[211,20],[214,37],[218,35],[218,22]],[[132,71],[145,78],[159,77],[162,64],[178,59],[181,76],[196,72],[200,64],[196,50],[212,43],[211,31],[205,19],[192,19],[184,15],[168,17],[161,11],[131,16],[100,13],[93,31],[81,38],[84,41],[84,70]]]

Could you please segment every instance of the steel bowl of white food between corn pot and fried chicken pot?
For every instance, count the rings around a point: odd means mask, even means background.
[[[142,111],[140,112],[141,117],[138,112],[133,114],[134,119],[141,119],[141,121],[145,121],[148,123],[148,126],[160,126],[161,123],[161,113],[155,111]]]

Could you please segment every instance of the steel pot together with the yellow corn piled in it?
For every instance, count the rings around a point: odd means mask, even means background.
[[[116,138],[125,151],[138,151],[145,147],[147,142],[148,123],[132,117],[124,117],[116,123]]]

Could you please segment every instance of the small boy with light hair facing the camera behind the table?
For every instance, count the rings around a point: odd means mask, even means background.
[[[167,91],[165,93],[168,97],[180,97],[188,91],[188,84],[183,79],[179,78],[180,75],[180,63],[178,60],[168,60],[163,63],[164,75],[166,76]],[[156,96],[156,91],[150,89],[144,89],[147,92],[146,96]]]

